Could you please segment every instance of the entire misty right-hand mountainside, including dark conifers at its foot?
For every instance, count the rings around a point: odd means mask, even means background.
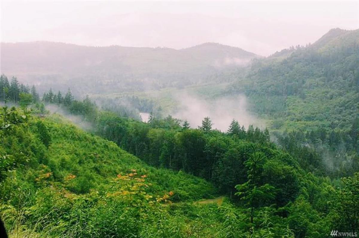
[[[315,148],[333,176],[358,171],[359,30],[257,59],[224,93],[244,93],[285,149]]]

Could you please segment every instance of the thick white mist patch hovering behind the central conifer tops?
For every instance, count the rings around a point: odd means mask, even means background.
[[[179,106],[178,110],[172,113],[173,117],[187,120],[192,128],[202,125],[204,117],[210,117],[212,128],[223,132],[228,130],[233,119],[246,128],[249,125],[264,127],[263,122],[248,112],[247,98],[244,95],[205,100],[188,93],[179,93],[174,98]]]

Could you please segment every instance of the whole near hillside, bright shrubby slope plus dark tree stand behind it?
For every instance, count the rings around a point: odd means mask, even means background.
[[[231,200],[218,197],[205,180],[146,165],[57,115],[1,108],[0,215],[10,237],[326,237],[333,228],[356,229],[349,221],[358,213],[358,174],[334,189],[300,167],[313,161],[291,157],[258,129],[233,126],[225,135],[162,123],[102,113],[97,130],[149,164],[208,177],[217,160],[208,180],[222,194],[243,183],[239,192]],[[183,149],[174,149],[173,139]],[[171,165],[172,153],[185,153],[172,157],[182,162]],[[336,216],[341,213],[348,218]]]

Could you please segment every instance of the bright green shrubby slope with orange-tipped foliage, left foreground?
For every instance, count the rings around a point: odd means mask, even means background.
[[[0,130],[0,214],[10,237],[182,237],[227,229],[215,219],[201,225],[217,209],[192,205],[216,195],[203,179],[145,165],[59,116],[21,118]]]

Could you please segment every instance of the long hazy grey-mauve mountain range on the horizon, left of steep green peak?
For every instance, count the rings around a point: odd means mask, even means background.
[[[247,65],[258,55],[206,43],[170,48],[85,47],[54,42],[1,43],[1,73],[39,88],[81,93],[183,87],[208,83],[216,72]]]

